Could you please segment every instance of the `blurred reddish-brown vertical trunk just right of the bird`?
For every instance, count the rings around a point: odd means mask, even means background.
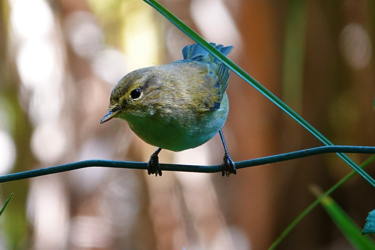
[[[280,96],[282,46],[280,4],[273,1],[241,1],[237,25],[244,40],[242,57],[235,62],[276,96]],[[224,130],[231,132],[228,148],[235,161],[278,152],[281,112],[258,91],[231,75],[228,88],[231,109]],[[220,199],[226,205],[229,225],[246,232],[252,249],[266,249],[275,225],[275,167],[240,169],[236,176],[217,180],[227,187]],[[271,229],[271,230],[270,230]]]

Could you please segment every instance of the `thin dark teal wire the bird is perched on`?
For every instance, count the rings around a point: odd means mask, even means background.
[[[313,156],[324,153],[361,153],[361,154],[375,154],[375,147],[361,147],[361,146],[323,146],[317,148],[309,148],[291,153],[277,154],[274,156],[267,156],[252,160],[245,160],[236,162],[236,168],[248,168],[252,166],[260,166],[275,162],[282,162],[285,160],[292,160],[306,156]],[[147,169],[145,162],[123,162],[113,160],[84,160],[81,162],[73,162],[49,168],[34,169],[25,172],[14,174],[7,174],[0,176],[0,183],[8,181],[22,180],[42,175],[55,174],[74,169],[88,168],[88,167],[108,167],[108,168],[130,168],[130,169]],[[199,173],[216,173],[221,172],[220,165],[213,166],[196,166],[196,165],[176,165],[176,164],[160,164],[160,169],[164,171],[183,171],[183,172],[199,172]]]

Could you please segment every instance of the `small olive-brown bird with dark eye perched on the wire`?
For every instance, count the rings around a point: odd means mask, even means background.
[[[233,46],[210,43],[223,55]],[[229,69],[198,44],[182,49],[183,60],[134,70],[115,85],[110,108],[100,123],[125,120],[143,141],[159,147],[148,161],[148,174],[162,175],[162,148],[198,147],[220,133],[224,146],[222,175],[236,174],[221,128],[228,115]]]

